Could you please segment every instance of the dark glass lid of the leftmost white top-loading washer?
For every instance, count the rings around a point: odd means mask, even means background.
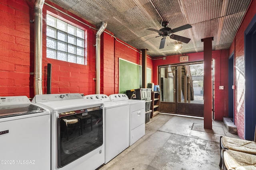
[[[32,113],[42,113],[45,110],[33,104],[17,104],[0,106],[0,118],[18,115],[27,115]]]

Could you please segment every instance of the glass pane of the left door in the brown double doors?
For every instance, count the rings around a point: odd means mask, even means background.
[[[162,102],[175,102],[175,66],[160,68]]]

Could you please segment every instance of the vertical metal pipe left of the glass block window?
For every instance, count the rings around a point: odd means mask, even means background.
[[[34,3],[34,95],[42,94],[42,9],[44,0]]]

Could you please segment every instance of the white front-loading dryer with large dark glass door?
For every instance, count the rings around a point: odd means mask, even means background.
[[[104,104],[80,94],[32,100],[51,113],[51,170],[95,170],[104,163]]]

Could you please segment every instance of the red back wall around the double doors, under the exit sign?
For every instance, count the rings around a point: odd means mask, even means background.
[[[189,53],[189,62],[202,61],[204,59],[204,53]],[[173,55],[167,56],[166,60],[162,58],[155,59],[153,61],[153,82],[154,84],[159,84],[158,82],[158,66],[168,65],[168,64],[178,64],[180,63],[180,56]],[[212,51],[212,59],[215,61],[215,112],[214,119],[222,121],[224,116],[228,116],[228,50]],[[224,86],[224,90],[219,90],[219,86]]]

